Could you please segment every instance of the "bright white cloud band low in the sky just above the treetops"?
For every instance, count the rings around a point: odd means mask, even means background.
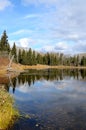
[[[32,48],[36,51],[41,52],[56,52],[56,53],[64,53],[64,54],[78,54],[78,53],[85,53],[86,52],[86,40],[78,41],[78,43],[69,43],[69,42],[57,42],[54,44],[43,44],[41,45],[40,40],[33,40],[31,38],[21,38],[18,41],[9,41],[11,46],[13,43],[16,43],[17,46],[28,49]],[[41,41],[43,42],[43,41]],[[34,48],[34,45],[38,46]],[[40,46],[40,47],[39,47]]]

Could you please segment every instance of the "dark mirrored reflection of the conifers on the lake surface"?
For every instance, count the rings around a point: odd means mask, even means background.
[[[29,85],[31,86],[36,81],[39,80],[63,80],[64,78],[70,78],[76,80],[86,79],[86,70],[57,70],[57,69],[47,69],[47,70],[29,70],[27,73],[22,73],[18,77],[12,79],[13,93],[15,92],[16,86]]]

